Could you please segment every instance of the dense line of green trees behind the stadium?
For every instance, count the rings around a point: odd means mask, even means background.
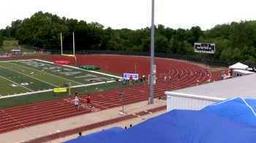
[[[60,18],[49,12],[36,12],[31,18],[12,21],[0,30],[0,46],[4,38],[18,39],[19,45],[31,45],[46,50],[59,50],[63,37],[64,50],[72,50],[72,33],[76,50],[150,51],[151,28],[104,28],[100,23]],[[155,26],[155,52],[194,55],[194,43],[215,43],[214,55],[208,58],[256,63],[256,21],[225,23],[202,31],[199,26],[173,29]]]

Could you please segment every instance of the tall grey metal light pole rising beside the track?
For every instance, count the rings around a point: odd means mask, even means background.
[[[154,104],[154,77],[153,77],[153,65],[154,65],[154,0],[152,0],[151,10],[151,62],[150,62],[150,102]]]

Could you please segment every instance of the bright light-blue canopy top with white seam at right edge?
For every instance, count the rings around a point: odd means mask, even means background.
[[[256,99],[230,98],[201,110],[256,126]]]

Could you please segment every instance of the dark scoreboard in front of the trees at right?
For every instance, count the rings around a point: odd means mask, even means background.
[[[195,43],[195,53],[215,53],[215,44],[213,43]]]

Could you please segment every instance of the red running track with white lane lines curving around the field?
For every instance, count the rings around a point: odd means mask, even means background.
[[[69,57],[59,55],[30,56],[29,58],[42,58],[50,61],[74,60]],[[149,74],[150,59],[146,57],[135,57],[126,55],[78,55],[78,65],[95,65],[104,71],[110,71],[118,74],[135,73]],[[8,58],[6,58],[8,59]],[[206,69],[191,63],[174,61],[162,58],[156,58],[157,65],[157,85],[154,87],[154,97],[165,96],[166,90],[177,90],[196,85],[199,80],[200,84],[206,83]],[[136,66],[135,66],[136,65]],[[135,68],[136,67],[136,68]],[[205,71],[198,74],[198,71]],[[197,74],[195,74],[197,71]],[[211,80],[219,80],[220,72],[216,71],[211,74]],[[185,74],[188,74],[186,79]],[[160,74],[165,74],[167,79],[171,76],[171,81],[164,81]],[[181,79],[178,81],[178,75]],[[62,98],[53,101],[45,101],[37,104],[23,105],[8,109],[0,109],[0,134],[13,131],[19,128],[26,128],[31,125],[47,123],[53,120],[60,120],[65,117],[83,115],[90,112],[97,112],[103,109],[120,107],[121,101],[118,96],[118,90],[110,90],[91,94],[91,105],[82,104],[83,108],[76,110],[72,104],[72,98]],[[149,97],[148,85],[136,85],[131,88],[124,88],[124,104],[132,104],[139,101],[146,101]],[[85,96],[80,96],[80,101],[85,101]]]

